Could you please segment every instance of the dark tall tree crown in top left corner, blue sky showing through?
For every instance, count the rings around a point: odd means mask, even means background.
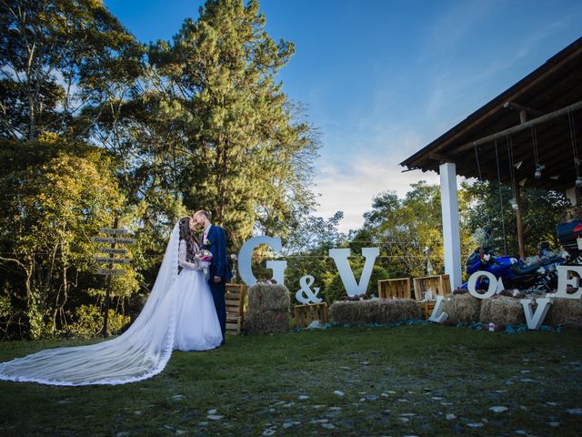
[[[143,47],[99,0],[2,0],[0,36],[0,137],[84,135],[142,70]]]

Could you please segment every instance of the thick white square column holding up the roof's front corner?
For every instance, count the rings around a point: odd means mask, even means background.
[[[455,164],[440,165],[440,198],[443,211],[445,273],[455,290],[461,285],[461,237],[458,227],[457,170]]]

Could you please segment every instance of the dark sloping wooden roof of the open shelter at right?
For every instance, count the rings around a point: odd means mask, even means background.
[[[477,109],[456,127],[406,158],[400,165],[408,169],[438,171],[440,163],[455,162],[458,175],[478,178],[480,168],[482,178],[497,181],[498,163],[501,181],[510,184],[509,163],[513,162],[514,180],[521,181],[521,185],[527,188],[562,190],[574,187],[577,173],[568,113],[574,117],[577,153],[582,159],[580,102],[582,102],[582,37],[548,59],[544,65],[516,85]],[[573,111],[572,105],[575,105]],[[559,109],[568,107],[570,110],[565,109],[553,114]],[[527,125],[534,126],[537,136],[537,162],[546,166],[539,179],[534,178],[536,160],[532,127],[518,127],[521,124],[520,109],[523,112],[524,108],[527,108],[525,111]],[[547,120],[548,118],[551,119]],[[541,123],[542,120],[547,121]],[[527,125],[524,124],[523,127]],[[521,130],[511,135],[499,135],[497,138],[498,160],[495,140],[478,141],[512,127],[516,127],[513,130],[520,128]],[[508,144],[511,144],[513,161],[509,160]],[[520,161],[521,165],[516,168]],[[582,164],[582,161],[580,162]],[[582,166],[579,168],[582,174]]]

